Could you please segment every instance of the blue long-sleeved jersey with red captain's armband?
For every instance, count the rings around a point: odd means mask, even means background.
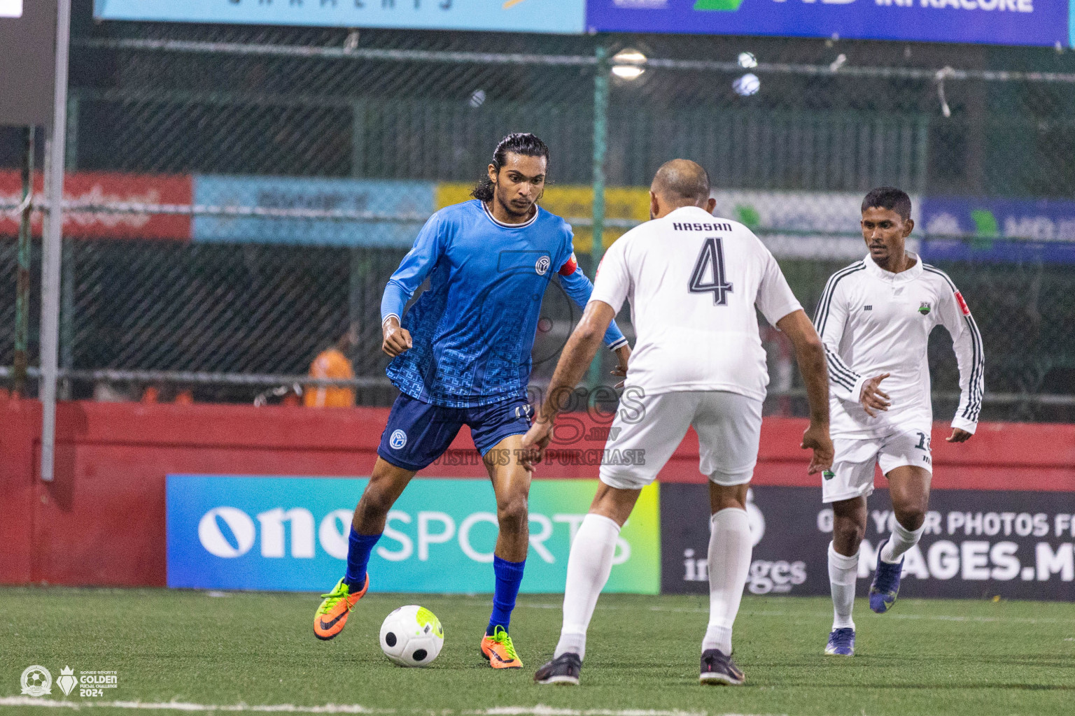
[[[542,297],[554,274],[572,301],[586,306],[593,284],[575,263],[571,227],[560,217],[539,207],[530,221],[505,224],[476,200],[441,209],[385,287],[382,322],[400,317],[430,281],[402,319],[414,347],[392,360],[388,377],[411,397],[449,408],[525,399]],[[626,342],[613,323],[605,344]]]

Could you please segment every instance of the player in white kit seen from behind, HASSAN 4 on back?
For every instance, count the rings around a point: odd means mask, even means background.
[[[563,628],[540,684],[577,684],[586,630],[612,569],[620,526],[642,488],[657,477],[693,426],[699,469],[710,480],[710,625],[702,641],[700,681],[742,684],[731,659],[751,540],[746,493],[758,459],[761,404],[769,374],[755,307],[791,339],[806,383],[811,424],[802,447],[814,450],[809,471],[832,462],[825,350],[779,266],[741,223],[714,218],[710,179],[691,161],[673,160],[650,187],[654,219],[625,234],[604,255],[594,290],[556,367],[549,396],[524,438],[524,449],[548,444],[553,421],[593,359],[603,326],[627,298],[637,333],[626,391],[642,410],[621,408],[606,451],[644,451],[643,464],[602,465],[597,496],[568,559]],[[622,453],[628,454],[628,453]]]

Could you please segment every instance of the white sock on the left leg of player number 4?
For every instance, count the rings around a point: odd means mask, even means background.
[[[598,595],[608,581],[619,525],[600,514],[588,514],[575,532],[568,557],[568,584],[563,589],[563,627],[553,657],[569,652],[586,656],[586,629]]]

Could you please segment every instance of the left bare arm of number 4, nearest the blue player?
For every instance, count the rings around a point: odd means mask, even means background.
[[[583,379],[583,375],[597,355],[601,339],[608,325],[616,317],[612,306],[603,301],[591,301],[586,305],[583,319],[575,326],[568,345],[563,348],[560,361],[556,364],[553,381],[548,385],[548,398],[542,404],[530,430],[522,438],[524,465],[532,469],[535,463],[542,461],[545,448],[553,434],[553,424],[560,409],[565,405],[563,399]],[[626,363],[624,349],[617,351],[621,362]],[[628,355],[630,353],[628,352]],[[626,375],[626,374],[625,374]]]

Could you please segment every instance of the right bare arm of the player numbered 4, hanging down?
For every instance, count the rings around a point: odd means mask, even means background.
[[[776,327],[791,340],[796,349],[799,371],[806,384],[806,399],[809,401],[809,426],[803,433],[800,445],[813,450],[807,472],[816,474],[832,467],[833,447],[829,437],[829,368],[825,357],[825,346],[814,330],[806,312],[791,311]]]

